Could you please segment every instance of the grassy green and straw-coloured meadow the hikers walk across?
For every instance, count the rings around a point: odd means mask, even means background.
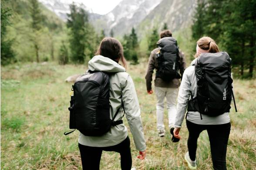
[[[141,106],[147,157],[136,158],[131,140],[133,167],[138,170],[187,170],[183,159],[187,151],[188,131],[183,123],[182,140],[174,144],[170,134],[160,138],[156,131],[155,95],[145,87],[147,63],[129,65]],[[85,65],[46,65],[25,63],[1,67],[1,169],[3,170],[81,170],[77,147],[78,131],[69,130],[70,75],[83,73]],[[234,80],[238,113],[232,107],[232,130],[227,150],[229,170],[256,170],[256,80]],[[166,131],[168,125],[165,111]],[[127,121],[125,124],[128,127]],[[129,132],[129,137],[132,135]],[[209,140],[206,131],[198,140],[199,170],[211,170]],[[101,170],[120,169],[120,156],[103,152]]]

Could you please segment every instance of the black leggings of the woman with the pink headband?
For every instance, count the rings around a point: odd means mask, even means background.
[[[186,123],[189,130],[188,148],[190,159],[195,160],[199,134],[202,131],[207,130],[211,147],[213,169],[226,170],[226,152],[231,124],[202,125],[194,124],[188,120],[186,120]]]

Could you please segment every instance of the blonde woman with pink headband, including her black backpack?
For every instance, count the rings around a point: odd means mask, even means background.
[[[185,69],[179,88],[174,130],[174,136],[180,139],[179,132],[188,106],[186,125],[189,130],[189,151],[185,154],[185,160],[190,169],[195,170],[197,167],[196,148],[199,134],[207,130],[213,168],[226,170],[226,151],[231,127],[231,94],[232,78],[228,54],[219,52],[219,47],[212,38],[200,38],[196,45],[195,59]]]

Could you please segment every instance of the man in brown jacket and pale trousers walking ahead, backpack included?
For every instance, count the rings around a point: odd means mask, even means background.
[[[170,30],[164,30],[160,33],[157,42],[158,48],[153,49],[148,60],[148,70],[146,73],[146,85],[148,94],[152,94],[152,74],[156,69],[155,75],[155,94],[157,97],[156,104],[156,122],[157,131],[160,137],[165,136],[164,125],[164,100],[166,98],[168,109],[168,127],[173,135],[174,121],[176,115],[176,99],[180,85],[179,78],[182,77],[185,70],[184,53],[179,50],[177,41],[172,37]],[[178,72],[179,71],[179,72]],[[172,136],[173,142],[178,142]]]

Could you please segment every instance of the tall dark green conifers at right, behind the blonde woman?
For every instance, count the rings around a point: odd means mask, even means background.
[[[192,37],[210,36],[226,50],[241,76],[253,77],[256,53],[255,0],[200,0]],[[244,75],[244,70],[248,75]]]

